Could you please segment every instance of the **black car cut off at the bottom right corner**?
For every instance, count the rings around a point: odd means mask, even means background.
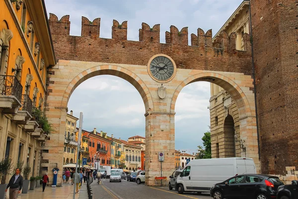
[[[277,199],[298,199],[298,183],[292,181],[292,185],[282,185],[278,188]]]

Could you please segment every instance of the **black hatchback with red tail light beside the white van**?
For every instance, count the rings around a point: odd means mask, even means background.
[[[276,198],[277,189],[284,185],[278,177],[245,174],[234,176],[210,189],[214,199],[272,199]]]

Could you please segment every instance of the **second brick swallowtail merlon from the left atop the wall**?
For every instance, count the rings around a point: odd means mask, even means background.
[[[95,18],[92,22],[82,16],[81,36],[99,37],[100,18]]]

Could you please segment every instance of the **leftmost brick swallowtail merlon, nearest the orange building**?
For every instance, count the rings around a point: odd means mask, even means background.
[[[52,34],[70,35],[70,15],[64,15],[58,20],[58,17],[55,14],[50,13],[49,25]]]

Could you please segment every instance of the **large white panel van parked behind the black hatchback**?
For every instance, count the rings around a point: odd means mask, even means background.
[[[215,158],[190,161],[177,177],[175,190],[183,192],[210,192],[210,188],[226,179],[241,174],[256,174],[251,158]]]

